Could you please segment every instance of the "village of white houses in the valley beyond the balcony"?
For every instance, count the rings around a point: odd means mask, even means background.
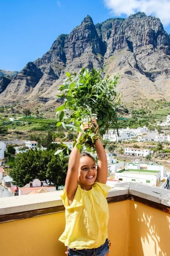
[[[162,127],[170,126],[170,115],[167,116],[167,120],[164,123],[158,123]],[[107,149],[107,162],[108,162],[108,185],[113,185],[120,182],[140,182],[149,186],[169,189],[170,184],[170,168],[167,168],[159,161],[152,161],[151,157],[154,154],[154,150],[147,148],[146,142],[155,142],[162,145],[162,143],[170,144],[169,133],[159,133],[155,128],[154,131],[150,131],[147,127],[138,128],[121,128],[118,131],[109,130],[107,134],[103,136],[104,141],[119,142],[119,143],[131,143],[135,142],[135,147],[124,147],[122,154],[114,153],[112,150]],[[16,140],[16,142],[18,142]],[[143,143],[142,147],[139,147],[137,143]],[[8,142],[9,143],[9,142]],[[52,142],[60,144],[60,142]],[[68,146],[70,150],[73,148],[73,142],[63,142]],[[158,145],[159,145],[158,144]],[[128,144],[127,144],[128,145]],[[160,146],[159,145],[159,146]],[[32,149],[46,150],[46,147],[38,147],[36,141],[25,141],[24,146],[14,147],[16,154],[27,152]],[[163,148],[163,147],[162,147]],[[158,147],[161,151],[162,148]],[[47,184],[44,181],[35,179],[30,180],[29,184],[24,187],[18,187],[17,184],[13,184],[12,178],[9,175],[4,175],[4,169],[7,167],[5,164],[4,153],[6,151],[6,143],[0,142],[0,196],[15,196],[26,195],[33,193],[43,193],[48,191],[56,191],[56,186]],[[116,156],[119,156],[117,159]],[[130,157],[131,161],[127,161],[126,157]],[[122,159],[121,159],[122,158]],[[129,158],[128,158],[129,159]],[[159,163],[158,163],[159,162]],[[60,186],[58,189],[63,189]]]

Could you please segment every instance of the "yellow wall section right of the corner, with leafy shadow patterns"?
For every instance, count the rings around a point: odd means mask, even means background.
[[[130,201],[129,256],[170,256],[170,215]]]

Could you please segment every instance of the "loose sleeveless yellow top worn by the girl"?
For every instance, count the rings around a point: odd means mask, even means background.
[[[76,249],[92,249],[104,244],[107,238],[108,204],[105,184],[95,182],[89,191],[80,185],[72,204],[69,206],[66,191],[61,195],[66,208],[66,227],[59,240]]]

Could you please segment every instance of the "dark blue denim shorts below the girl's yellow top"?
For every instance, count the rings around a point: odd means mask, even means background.
[[[68,256],[105,256],[106,253],[109,253],[109,241],[106,239],[106,242],[99,246],[98,248],[93,249],[81,249],[78,250],[76,248],[71,249],[68,248]]]

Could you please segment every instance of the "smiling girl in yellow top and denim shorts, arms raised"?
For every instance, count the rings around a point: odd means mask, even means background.
[[[98,124],[95,132],[98,134]],[[82,130],[91,128],[85,123]],[[78,138],[82,136],[79,133]],[[68,172],[62,200],[66,208],[66,228],[59,240],[67,248],[68,256],[107,256],[108,255],[108,204],[106,196],[110,187],[107,181],[107,157],[98,138],[95,149],[98,155],[98,167],[87,153],[80,154],[73,148],[68,162]]]

